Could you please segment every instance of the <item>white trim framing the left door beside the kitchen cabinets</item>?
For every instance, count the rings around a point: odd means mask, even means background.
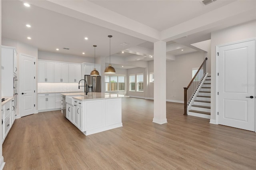
[[[21,68],[22,68],[22,62],[21,62],[21,59],[22,59],[22,55],[24,55],[24,56],[27,56],[27,57],[31,57],[31,58],[34,58],[35,59],[35,71],[37,71],[37,60],[36,60],[36,57],[34,57],[34,56],[32,56],[32,55],[28,55],[28,54],[24,54],[24,53],[20,53],[19,54],[19,78],[18,79],[20,79],[20,77],[21,77],[21,75],[20,75],[20,73],[21,73]],[[35,74],[35,76],[37,77],[37,73]],[[21,79],[20,79],[21,80]],[[37,80],[37,79],[36,79]],[[37,96],[37,89],[36,89],[36,84],[37,84],[37,81],[35,82],[35,85],[34,85],[34,88],[35,88],[35,90],[36,90],[36,93],[34,94],[34,99],[36,100],[36,96]],[[19,87],[18,87],[18,96],[19,96],[19,101],[21,101],[21,81],[19,81],[19,83],[18,83],[18,85],[19,85]],[[20,118],[21,117],[21,105],[20,105],[20,103],[18,103],[19,104],[19,117],[18,118]],[[37,103],[36,103],[37,104]],[[36,107],[34,107],[34,113],[38,113],[37,112],[37,110],[36,110]]]

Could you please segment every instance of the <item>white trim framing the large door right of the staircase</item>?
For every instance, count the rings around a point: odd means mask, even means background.
[[[215,82],[215,89],[216,89],[216,97],[215,97],[215,109],[216,109],[216,112],[215,112],[215,120],[216,120],[216,125],[218,125],[218,53],[217,51],[219,51],[219,48],[220,47],[223,47],[223,46],[226,46],[226,45],[232,45],[232,44],[236,44],[236,43],[242,43],[242,42],[249,42],[249,41],[256,41],[256,38],[250,38],[250,39],[246,39],[246,40],[240,40],[240,41],[237,41],[237,42],[232,42],[232,43],[226,43],[226,44],[221,44],[221,45],[216,45],[215,47],[215,70],[216,70],[216,73],[215,73],[215,79],[216,79],[216,82]],[[255,49],[256,49],[256,45],[255,45]],[[256,61],[256,60],[255,60]],[[256,67],[256,62],[255,62],[255,67]],[[256,75],[256,74],[255,74]],[[254,84],[254,87],[255,87],[255,91],[256,91],[256,84]],[[255,104],[255,111],[256,111],[256,104]],[[256,113],[255,113],[256,114]],[[255,132],[256,132],[256,116],[255,116]]]

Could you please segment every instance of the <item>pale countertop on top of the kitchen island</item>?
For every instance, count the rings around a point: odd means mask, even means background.
[[[80,101],[129,97],[126,95],[113,94],[113,93],[99,93],[99,92],[89,92],[88,95],[85,95],[83,92],[82,93],[61,93],[61,95],[70,96],[73,99],[77,99]],[[75,95],[78,95],[78,96],[75,96]]]

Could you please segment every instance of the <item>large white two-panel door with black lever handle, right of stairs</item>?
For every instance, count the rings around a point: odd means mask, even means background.
[[[218,124],[255,131],[255,40],[218,52]]]

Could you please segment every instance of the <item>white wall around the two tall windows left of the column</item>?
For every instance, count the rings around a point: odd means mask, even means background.
[[[138,91],[129,91],[130,90],[130,75],[133,75],[135,74],[135,82],[136,82],[136,79],[137,79],[137,74],[140,74],[140,73],[143,73],[144,74],[144,91],[143,92],[138,92]],[[127,77],[126,77],[126,89],[127,89],[127,95],[128,96],[134,96],[134,97],[140,97],[140,98],[145,98],[145,91],[146,90],[146,69],[145,68],[140,68],[140,67],[137,67],[137,68],[132,68],[132,69],[127,69]],[[135,89],[137,89],[137,84],[135,83]]]

